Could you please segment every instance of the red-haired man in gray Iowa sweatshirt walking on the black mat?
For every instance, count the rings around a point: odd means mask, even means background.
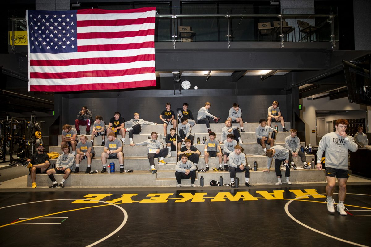
[[[335,132],[325,134],[321,141],[319,141],[319,147],[317,151],[317,169],[322,170],[321,157],[326,150],[326,194],[327,194],[327,210],[330,213],[335,212],[334,204],[335,201],[332,198],[334,193],[334,187],[336,185],[335,177],[338,178],[339,183],[339,203],[336,210],[346,216],[344,201],[347,195],[347,180],[349,177],[348,173],[348,150],[355,152],[358,150],[358,145],[354,142],[351,136],[348,136],[345,132],[347,130],[348,120],[338,119],[335,122]]]

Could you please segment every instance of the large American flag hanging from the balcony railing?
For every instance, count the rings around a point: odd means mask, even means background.
[[[29,91],[156,85],[155,8],[26,14]]]

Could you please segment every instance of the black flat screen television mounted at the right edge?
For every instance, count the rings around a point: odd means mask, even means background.
[[[343,67],[349,102],[371,106],[370,71],[344,60]]]

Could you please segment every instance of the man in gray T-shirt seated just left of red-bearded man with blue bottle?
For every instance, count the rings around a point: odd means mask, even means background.
[[[76,148],[76,168],[73,173],[78,173],[80,171],[79,165],[81,160],[88,160],[88,168],[86,168],[85,173],[91,171],[92,158],[95,156],[95,151],[91,141],[86,140],[86,136],[80,136],[80,142],[77,144]]]

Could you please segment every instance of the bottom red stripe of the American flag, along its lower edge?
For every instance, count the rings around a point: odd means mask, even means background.
[[[68,92],[68,91],[87,91],[87,90],[115,90],[115,89],[131,89],[134,87],[154,87],[156,80],[146,81],[130,81],[120,83],[96,83],[96,84],[78,84],[78,85],[63,85],[63,86],[39,86],[30,85],[30,91],[44,92]]]

